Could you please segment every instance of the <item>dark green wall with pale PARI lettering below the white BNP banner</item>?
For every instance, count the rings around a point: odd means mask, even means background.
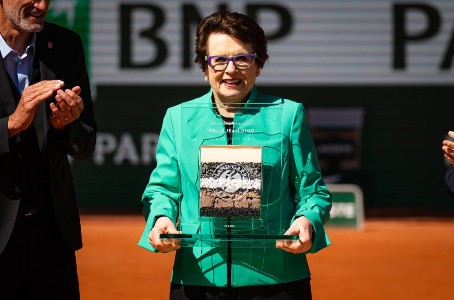
[[[258,87],[307,108],[364,108],[361,167],[344,171],[342,183],[363,189],[366,208],[454,208],[441,151],[452,129],[454,87]],[[80,205],[140,208],[165,109],[205,92],[206,87],[98,87],[97,153],[72,165]]]

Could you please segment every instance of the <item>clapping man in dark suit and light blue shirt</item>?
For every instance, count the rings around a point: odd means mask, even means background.
[[[0,0],[0,298],[79,299],[80,219],[68,155],[96,123],[78,34],[50,0]]]

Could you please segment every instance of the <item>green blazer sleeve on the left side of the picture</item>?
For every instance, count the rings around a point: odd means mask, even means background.
[[[174,124],[167,110],[162,123],[156,148],[156,168],[142,196],[142,211],[146,220],[145,229],[139,246],[157,252],[148,242],[148,234],[154,226],[156,217],[166,216],[174,224],[177,222],[178,205],[181,197],[180,167],[175,145]]]

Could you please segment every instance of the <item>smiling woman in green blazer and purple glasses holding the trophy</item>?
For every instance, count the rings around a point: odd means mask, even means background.
[[[171,299],[310,299],[305,254],[330,244],[324,224],[329,219],[331,195],[321,178],[306,111],[300,103],[258,92],[255,80],[268,58],[267,42],[251,18],[236,12],[206,17],[197,27],[196,54],[195,62],[211,89],[200,98],[169,108],[164,116],[157,166],[142,198],[147,223],[139,246],[153,252],[178,249]],[[184,104],[210,109],[184,111]],[[273,119],[266,110],[247,109],[260,105],[281,105],[281,119]],[[269,209],[262,218],[270,227],[283,224],[287,230],[280,233],[298,235],[297,242],[276,242],[267,248],[180,248],[178,243],[161,241],[161,233],[180,232],[177,222],[183,233],[197,233],[204,226],[194,179],[199,175],[199,146],[213,143],[204,124],[225,126],[217,145],[243,145],[245,140],[238,138],[235,128],[248,122],[260,124],[265,132],[270,128],[281,131],[281,135],[252,133],[248,145],[271,149],[267,159],[273,161],[267,164],[281,162],[280,173],[272,173],[271,184],[264,187],[270,199],[278,199],[273,203],[279,209]],[[280,189],[272,186],[279,181]],[[280,221],[272,219],[273,211],[280,213]]]

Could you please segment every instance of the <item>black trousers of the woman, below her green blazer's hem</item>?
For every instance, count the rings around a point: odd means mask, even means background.
[[[241,287],[171,283],[171,300],[311,300],[311,278],[293,282]]]

